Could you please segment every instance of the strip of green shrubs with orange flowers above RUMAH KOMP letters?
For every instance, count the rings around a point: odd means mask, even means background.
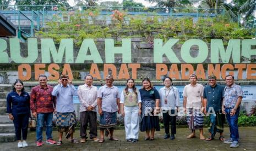
[[[115,11],[109,16],[100,16],[99,10],[71,11],[65,15],[68,21],[60,16],[53,16],[47,27],[36,33],[41,38],[53,38],[60,42],[63,38],[73,38],[75,44],[81,44],[85,38],[161,38],[167,42],[170,38],[178,38],[179,43],[187,39],[197,38],[205,42],[210,39],[222,39],[224,44],[229,39],[253,38],[255,30],[239,28],[236,22],[230,22],[225,16],[216,18],[166,18],[152,15],[127,15]],[[106,24],[111,18],[111,24]],[[118,42],[116,42],[118,43]]]

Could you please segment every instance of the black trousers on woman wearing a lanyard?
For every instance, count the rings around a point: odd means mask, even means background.
[[[176,134],[176,117],[177,117],[177,111],[175,114],[175,109],[171,109],[167,111],[164,111],[162,113],[164,118],[164,125],[165,125],[165,133],[170,133],[170,123],[171,123],[171,132],[172,134]]]

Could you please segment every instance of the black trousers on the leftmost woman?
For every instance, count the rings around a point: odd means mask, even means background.
[[[26,140],[26,136],[28,135],[30,114],[13,114],[13,117],[13,124],[15,127],[15,135],[17,140],[21,140],[21,131],[23,140]]]

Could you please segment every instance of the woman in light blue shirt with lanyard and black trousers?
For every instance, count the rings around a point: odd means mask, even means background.
[[[164,87],[159,90],[162,115],[164,117],[165,136],[164,139],[175,139],[176,134],[176,117],[179,107],[179,91],[172,86],[172,79],[165,77],[163,79]],[[171,122],[171,136],[169,133],[169,125]]]

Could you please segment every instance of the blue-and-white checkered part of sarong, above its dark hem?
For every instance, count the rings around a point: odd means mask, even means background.
[[[61,127],[67,127],[77,124],[77,118],[75,112],[70,113],[56,113],[56,125]]]

